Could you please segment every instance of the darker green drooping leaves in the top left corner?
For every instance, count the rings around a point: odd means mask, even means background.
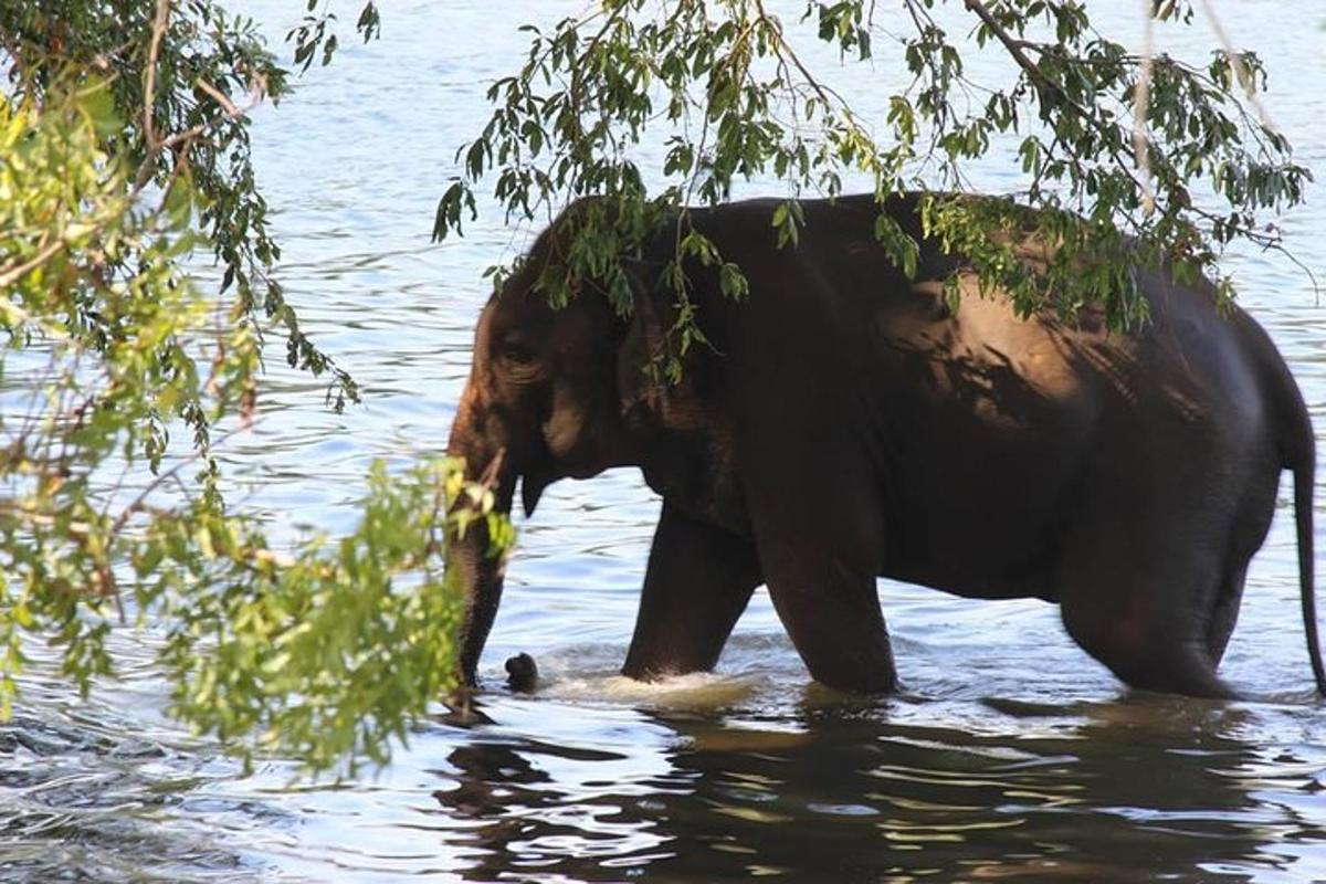
[[[329,400],[343,407],[358,399],[353,378],[302,331],[272,273],[281,249],[257,187],[251,119],[243,107],[247,97],[278,102],[292,89],[289,73],[277,64],[252,17],[232,15],[210,0],[164,4],[170,15],[159,44],[154,42],[160,7],[50,0],[4,4],[0,46],[12,99],[42,107],[60,102],[70,78],[102,80],[119,121],[118,131],[105,134],[103,148],[138,170],[139,188],[166,188],[187,171],[200,208],[195,227],[217,261],[221,292],[232,294],[237,314],[256,329],[269,321],[278,323],[286,338],[286,360],[316,376],[326,374]],[[150,115],[145,115],[149,109]],[[190,131],[206,131],[207,138],[191,138],[168,150],[152,143],[160,133]]]

